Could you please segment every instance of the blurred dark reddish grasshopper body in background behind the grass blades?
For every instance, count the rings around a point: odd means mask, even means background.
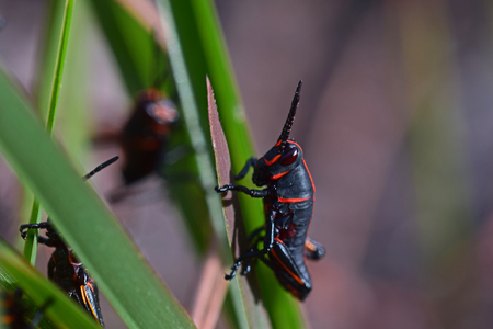
[[[125,155],[123,175],[127,185],[158,169],[177,117],[175,104],[163,92],[148,89],[138,97],[121,137]]]

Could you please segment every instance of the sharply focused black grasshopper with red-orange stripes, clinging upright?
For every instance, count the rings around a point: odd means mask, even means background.
[[[222,193],[232,190],[261,197],[265,208],[265,227],[253,232],[250,250],[237,259],[226,279],[234,277],[242,262],[260,258],[274,271],[285,288],[303,300],[311,291],[306,258],[320,259],[324,249],[307,236],[313,214],[316,189],[301,147],[296,141],[288,140],[300,90],[301,81],[276,145],[262,158],[249,159],[237,177],[238,180],[244,178],[250,167],[254,167],[253,183],[266,188],[250,190],[242,185],[225,185],[216,188],[216,191]],[[261,235],[263,231],[265,235]],[[259,249],[257,243],[262,239],[263,249]],[[246,265],[242,274],[249,271],[250,265]]]

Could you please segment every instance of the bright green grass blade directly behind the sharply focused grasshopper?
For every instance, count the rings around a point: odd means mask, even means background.
[[[246,159],[255,152],[214,4],[211,1],[169,1],[169,3],[175,19],[176,33],[183,48],[193,95],[202,115],[202,124],[207,124],[204,117],[207,100],[204,77],[208,75],[215,89],[219,115],[229,144],[232,168],[234,172],[239,172]],[[171,44],[169,46],[171,47]],[[246,231],[250,232],[264,225],[262,203],[246,195],[239,195],[239,198]],[[270,269],[259,264],[256,272],[272,326],[305,328],[298,300],[278,284]]]

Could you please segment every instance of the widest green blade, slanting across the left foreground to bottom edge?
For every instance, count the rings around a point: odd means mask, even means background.
[[[194,327],[3,71],[0,147],[128,327]]]

